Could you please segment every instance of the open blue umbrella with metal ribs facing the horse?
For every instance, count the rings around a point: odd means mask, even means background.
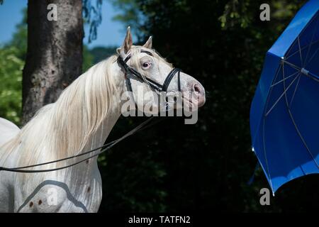
[[[267,52],[250,109],[252,150],[272,192],[319,173],[319,1],[310,0]]]

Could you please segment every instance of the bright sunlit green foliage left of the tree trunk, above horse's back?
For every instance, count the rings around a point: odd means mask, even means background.
[[[18,48],[0,48],[0,116],[20,124],[21,81],[24,62]]]

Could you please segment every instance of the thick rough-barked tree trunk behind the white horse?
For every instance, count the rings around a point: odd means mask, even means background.
[[[57,6],[57,21],[47,19],[49,4]],[[28,0],[23,125],[81,74],[83,34],[82,0]]]

